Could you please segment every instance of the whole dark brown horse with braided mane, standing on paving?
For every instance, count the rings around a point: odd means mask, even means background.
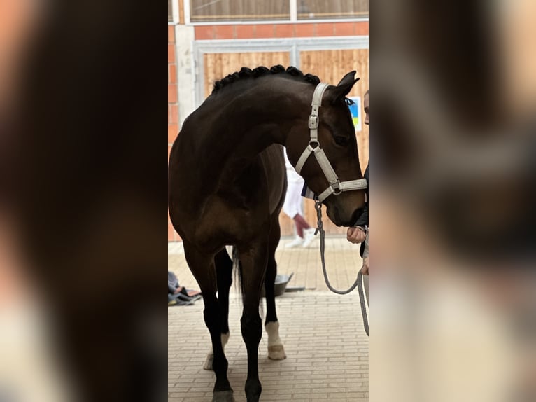
[[[229,337],[233,268],[226,246],[236,249],[239,261],[248,402],[258,401],[262,391],[258,345],[263,284],[268,357],[286,357],[274,298],[278,216],[286,189],[283,146],[337,226],[351,226],[362,212],[365,191],[355,190],[353,183],[358,180],[344,181],[362,179],[346,106],[346,95],[359,79],[354,76],[351,71],[338,85],[327,85],[295,67],[243,67],[214,84],[211,95],[186,118],[171,147],[169,216],[202,291],[216,374],[213,402],[234,401],[223,351]],[[316,160],[309,158],[312,154]]]

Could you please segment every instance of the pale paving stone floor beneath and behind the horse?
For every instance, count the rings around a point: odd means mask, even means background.
[[[261,401],[368,401],[368,338],[362,326],[358,293],[339,296],[328,291],[320,268],[318,242],[307,249],[286,249],[285,244],[291,240],[283,239],[278,247],[278,272],[294,272],[288,286],[304,286],[306,290],[276,298],[287,359],[267,358],[267,336],[263,333],[259,347]],[[329,237],[325,256],[332,284],[339,289],[348,288],[361,266],[358,246],[344,237]],[[181,284],[197,289],[180,242],[169,243],[168,265]],[[215,376],[202,369],[210,347],[202,311],[202,300],[191,306],[168,307],[168,402],[211,401]],[[240,315],[241,300],[232,288],[231,336],[225,354],[234,397],[244,402],[247,359]]]

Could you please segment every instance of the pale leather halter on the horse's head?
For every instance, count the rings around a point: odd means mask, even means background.
[[[335,173],[330,161],[327,160],[327,156],[325,155],[323,149],[320,148],[320,143],[318,142],[318,124],[320,123],[320,119],[318,118],[318,109],[320,109],[320,106],[322,106],[322,97],[328,86],[329,84],[327,83],[319,83],[316,85],[313,93],[313,102],[311,102],[311,106],[313,107],[311,109],[311,115],[309,116],[311,140],[309,141],[307,148],[305,148],[305,151],[303,151],[302,156],[299,157],[295,167],[296,172],[300,174],[306,160],[309,159],[311,153],[315,155],[318,165],[320,165],[322,172],[324,172],[327,182],[330,183],[330,185],[322,193],[320,193],[320,195],[318,195],[318,201],[320,202],[323,202],[323,200],[332,194],[339,195],[344,191],[364,190],[367,188],[366,179],[339,181],[339,176],[337,176],[337,173]]]

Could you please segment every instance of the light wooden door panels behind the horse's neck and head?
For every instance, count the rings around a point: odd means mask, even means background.
[[[368,89],[369,83],[369,50],[307,50],[299,53],[300,65],[297,66],[304,73],[315,74],[321,81],[337,85],[341,78],[349,71],[356,70],[360,77],[348,96],[360,96]],[[241,67],[271,67],[281,64],[287,67],[290,63],[290,54],[287,52],[253,52],[253,53],[206,53],[204,55],[204,95],[208,97],[212,92],[215,81],[239,71]],[[362,107],[362,105],[361,105]],[[368,163],[368,126],[362,125],[362,131],[356,132],[358,137],[358,151],[361,169],[364,172]],[[325,209],[323,209],[325,215]],[[316,212],[314,202],[304,199],[304,216],[311,226],[316,226]],[[293,235],[294,225],[292,219],[281,212],[281,235]],[[327,219],[324,219],[324,228],[329,234],[346,234],[346,228],[337,228]]]

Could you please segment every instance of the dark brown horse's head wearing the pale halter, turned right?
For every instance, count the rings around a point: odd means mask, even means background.
[[[353,225],[365,205],[364,183],[356,181],[362,179],[362,173],[355,128],[346,104],[346,95],[359,79],[354,76],[355,71],[346,74],[337,86],[323,88],[325,84],[318,84],[313,104],[320,100],[321,107],[313,106],[311,111],[309,95],[309,127],[305,121],[292,127],[285,144],[290,162],[327,206],[327,216],[337,226]]]

